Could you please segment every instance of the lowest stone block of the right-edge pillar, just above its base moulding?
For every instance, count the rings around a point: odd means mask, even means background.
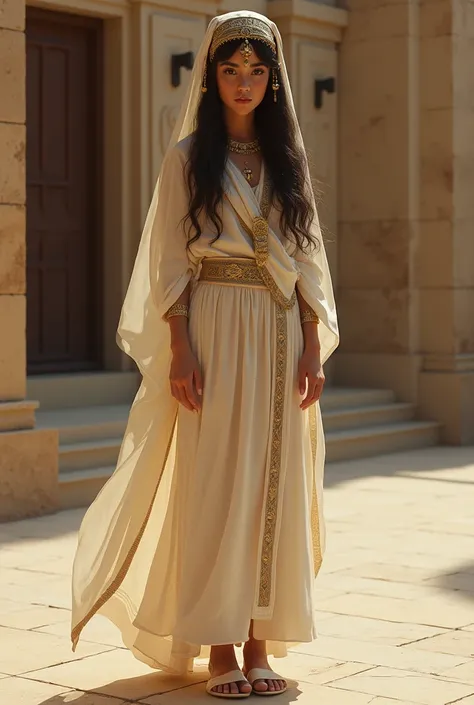
[[[419,305],[421,351],[454,352],[454,290],[421,289]]]

